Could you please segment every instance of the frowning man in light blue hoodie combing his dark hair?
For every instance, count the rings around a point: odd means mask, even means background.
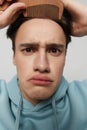
[[[77,12],[77,7],[81,10],[83,6],[77,5],[68,0],[65,3],[71,14],[78,16],[72,17],[72,35],[82,36],[87,34],[87,19],[83,11]],[[10,13],[20,8],[24,9],[24,4],[15,3],[1,12],[1,21],[6,19],[0,22],[1,28],[14,21]],[[62,77],[69,34],[50,19],[25,20],[12,32],[15,25],[18,24],[10,26],[8,36],[14,45],[13,62],[18,76],[7,85],[1,81],[0,129],[86,130],[87,81],[69,84]]]

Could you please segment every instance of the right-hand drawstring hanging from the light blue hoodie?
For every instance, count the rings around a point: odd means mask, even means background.
[[[53,108],[53,114],[54,114],[54,130],[59,130],[59,129],[58,129],[56,103],[55,103],[55,98],[54,98],[54,97],[53,97],[53,99],[52,99],[52,108]]]

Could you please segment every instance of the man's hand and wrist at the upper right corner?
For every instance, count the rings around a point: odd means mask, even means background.
[[[87,5],[75,0],[61,0],[72,17],[71,30],[73,36],[87,35]]]

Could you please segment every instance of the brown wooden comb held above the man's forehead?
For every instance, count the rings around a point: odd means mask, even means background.
[[[57,20],[61,19],[63,15],[64,5],[60,0],[16,0],[15,2],[26,4],[26,9],[23,12],[24,17]],[[0,11],[6,10],[12,3],[5,1],[0,5]]]

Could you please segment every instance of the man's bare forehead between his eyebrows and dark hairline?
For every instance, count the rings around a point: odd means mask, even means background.
[[[17,31],[16,43],[25,42],[60,42],[65,43],[63,29],[49,19],[31,19],[24,22]]]

